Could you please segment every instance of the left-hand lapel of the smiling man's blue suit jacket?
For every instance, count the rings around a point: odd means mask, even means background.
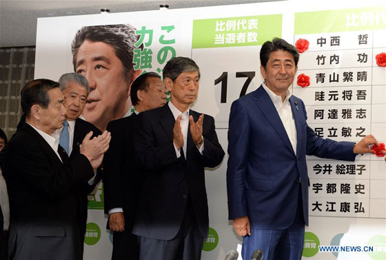
[[[288,138],[287,131],[285,131],[283,122],[281,122],[276,107],[274,106],[274,103],[272,102],[270,96],[267,94],[263,86],[260,86],[258,89],[256,89],[254,92],[254,97],[256,100],[256,105],[263,112],[265,118],[267,118],[268,122],[270,122],[287,148],[290,149],[290,151],[294,154],[294,149],[292,148],[290,138]]]

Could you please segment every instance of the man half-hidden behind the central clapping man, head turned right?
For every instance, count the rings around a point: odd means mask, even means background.
[[[134,162],[134,126],[136,115],[162,107],[166,103],[165,85],[154,72],[142,74],[130,89],[134,113],[127,118],[112,120],[107,130],[112,134],[110,147],[105,153],[103,190],[105,214],[109,215],[108,228],[113,233],[112,259],[139,259],[139,245],[132,234],[142,173]]]

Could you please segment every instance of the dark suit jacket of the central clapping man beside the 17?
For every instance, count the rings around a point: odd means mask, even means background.
[[[192,110],[190,115],[194,122],[200,116]],[[174,122],[169,105],[139,114],[134,149],[145,173],[133,233],[154,239],[172,239],[181,227],[190,197],[201,235],[207,237],[209,219],[204,167],[219,165],[224,151],[217,139],[214,118],[205,115],[203,155],[188,129],[187,158],[185,160],[182,153],[176,158]]]

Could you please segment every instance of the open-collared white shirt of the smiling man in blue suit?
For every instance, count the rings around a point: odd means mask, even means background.
[[[292,96],[290,89],[287,89],[287,94],[285,95],[285,100],[281,99],[281,96],[274,94],[274,92],[267,87],[264,83],[263,85],[265,91],[267,91],[268,96],[270,96],[276,111],[278,112],[278,116],[280,116],[281,122],[287,132],[288,138],[290,138],[290,142],[292,144],[292,149],[294,149],[294,153],[296,155],[296,145],[298,140],[296,138],[296,125],[295,118],[292,114],[290,97]]]

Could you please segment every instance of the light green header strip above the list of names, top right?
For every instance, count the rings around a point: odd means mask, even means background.
[[[386,29],[386,6],[295,14],[295,34],[376,29]]]

